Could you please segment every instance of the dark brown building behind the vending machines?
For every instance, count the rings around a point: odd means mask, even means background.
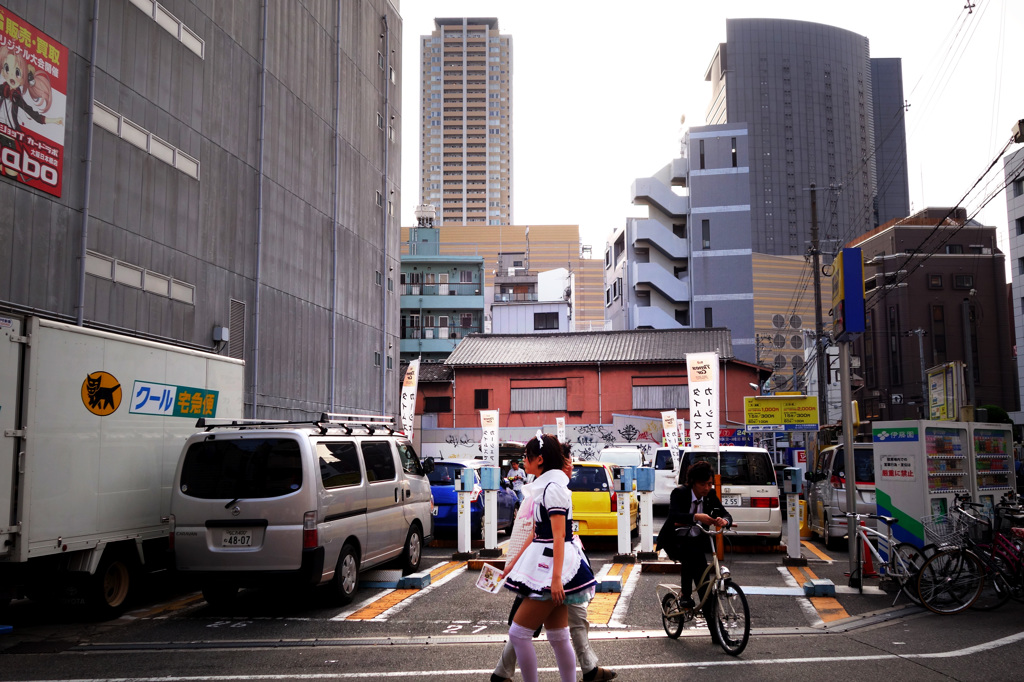
[[[1006,257],[995,227],[965,209],[930,208],[894,220],[847,246],[865,262],[866,331],[854,344],[862,418],[927,419],[923,370],[964,363],[975,407],[1019,409],[1007,304]]]

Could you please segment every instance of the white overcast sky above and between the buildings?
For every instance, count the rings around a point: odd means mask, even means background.
[[[496,16],[512,36],[514,222],[580,225],[597,257],[627,217],[646,215],[631,185],[678,156],[680,117],[705,124],[726,18],[827,24],[866,36],[872,57],[901,57],[911,210],[952,206],[1024,119],[1024,2],[973,0],[970,15],[966,2],[401,0],[402,224],[419,203],[419,39],[437,16]],[[1001,179],[1000,160],[987,186]],[[978,218],[1001,228],[1006,252],[1005,195]]]

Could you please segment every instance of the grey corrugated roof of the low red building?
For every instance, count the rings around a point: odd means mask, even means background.
[[[450,367],[681,363],[686,353],[718,351],[732,357],[725,328],[573,332],[570,334],[470,334],[444,364]]]

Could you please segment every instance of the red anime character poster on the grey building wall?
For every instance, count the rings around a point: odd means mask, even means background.
[[[60,196],[68,48],[0,7],[0,175]]]

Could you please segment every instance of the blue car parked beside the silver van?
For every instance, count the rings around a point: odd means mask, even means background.
[[[455,476],[457,469],[470,469],[473,475],[473,493],[470,498],[471,532],[479,538],[483,535],[483,489],[480,487],[479,468],[486,466],[483,460],[436,460],[434,470],[427,474],[430,494],[434,501],[434,532],[459,528],[459,506],[456,500]],[[462,474],[465,475],[465,474]],[[515,493],[502,480],[498,491],[498,529],[512,535],[512,524],[519,511],[519,500]]]

